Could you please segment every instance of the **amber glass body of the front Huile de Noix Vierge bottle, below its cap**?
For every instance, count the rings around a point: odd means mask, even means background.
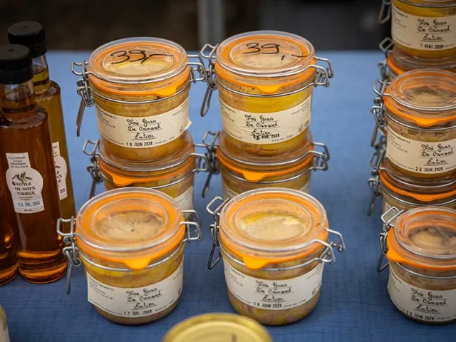
[[[27,281],[48,283],[66,272],[56,233],[61,217],[46,110],[36,105],[32,81],[0,85],[0,158],[18,221],[19,273]]]

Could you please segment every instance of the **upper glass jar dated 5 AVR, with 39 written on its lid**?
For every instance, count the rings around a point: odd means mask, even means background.
[[[206,49],[202,55],[216,77],[209,78],[209,93],[219,88],[222,125],[232,145],[254,155],[279,155],[306,140],[314,87],[328,86],[333,76],[331,63],[316,57],[309,41],[291,33],[253,31],[222,41],[208,56]],[[328,70],[317,61],[327,63]]]

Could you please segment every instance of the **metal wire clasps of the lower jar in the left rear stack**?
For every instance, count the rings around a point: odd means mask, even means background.
[[[88,150],[88,146],[91,145],[92,149]],[[195,144],[195,147],[200,147],[200,144]],[[98,152],[100,148],[100,140],[86,140],[83,145],[83,153],[85,155],[88,155],[90,157],[90,164],[87,167],[88,172],[90,173],[90,176],[92,177],[92,185],[90,186],[90,194],[88,199],[92,198],[95,196],[95,188],[96,185],[100,182],[103,182],[103,178],[106,180],[106,178],[103,176],[103,172],[100,170],[100,165],[98,165],[98,158],[100,157],[100,152]],[[209,172],[210,170],[210,162],[207,159],[207,155],[202,155],[201,153],[197,152],[192,152],[190,155],[187,156],[185,160],[182,160],[183,162],[186,162],[188,158],[190,157],[195,157],[195,168],[192,170],[192,172],[189,172],[185,177],[182,177],[180,180],[176,180],[175,182],[172,183],[167,183],[165,185],[159,185],[157,187],[153,187],[155,190],[160,190],[164,187],[171,187],[172,185],[176,185],[180,182],[183,182],[186,180],[192,173],[198,173],[198,172]],[[170,165],[170,167],[175,167],[177,165]],[[160,170],[166,170],[168,167],[162,167],[160,169],[157,169],[155,171],[160,171]],[[109,180],[108,180],[109,181]]]

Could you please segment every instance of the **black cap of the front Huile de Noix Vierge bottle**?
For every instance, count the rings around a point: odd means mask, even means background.
[[[32,78],[30,50],[16,44],[0,46],[0,83],[19,84]]]

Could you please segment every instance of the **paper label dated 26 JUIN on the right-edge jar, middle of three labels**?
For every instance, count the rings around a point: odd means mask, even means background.
[[[386,157],[405,170],[438,174],[456,170],[456,139],[425,142],[405,138],[388,126]]]

